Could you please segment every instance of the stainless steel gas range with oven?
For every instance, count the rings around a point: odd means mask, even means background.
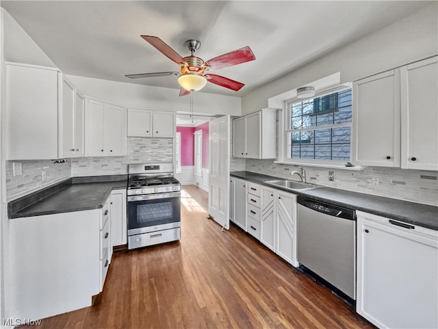
[[[179,240],[181,184],[173,164],[128,164],[128,249]]]

